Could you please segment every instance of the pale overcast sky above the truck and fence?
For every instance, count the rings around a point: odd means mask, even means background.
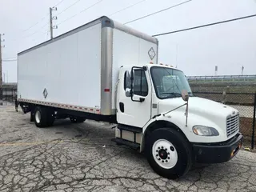
[[[54,24],[60,23],[58,30],[54,30],[55,37],[102,15],[124,23],[168,6],[186,2],[186,0],[77,1],[0,0],[0,33],[6,34],[3,36],[6,47],[2,49],[2,58],[16,57],[18,52],[48,40],[50,38],[49,7],[58,2],[61,3],[53,14],[58,14],[58,20],[54,21]],[[74,2],[77,3],[71,6]],[[99,3],[86,10],[96,2]],[[113,14],[136,2],[141,3]],[[70,8],[65,10],[69,6]],[[249,14],[256,14],[255,0],[192,0],[174,9],[131,22],[127,26],[153,35]],[[74,17],[70,18],[72,16]],[[67,18],[70,19],[66,21]],[[34,26],[37,22],[38,24]],[[256,18],[168,34],[158,37],[158,40],[159,62],[178,66],[186,75],[213,75],[214,66],[218,66],[220,75],[241,74],[242,66],[244,66],[244,74],[256,74]],[[3,62],[2,70],[6,74],[6,80],[8,73],[9,82],[17,81],[16,69],[17,62]]]

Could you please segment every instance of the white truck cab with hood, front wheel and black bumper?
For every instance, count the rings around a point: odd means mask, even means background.
[[[114,142],[145,152],[166,178],[186,174],[194,162],[229,161],[242,146],[238,110],[195,97],[182,70],[122,66],[116,94]]]

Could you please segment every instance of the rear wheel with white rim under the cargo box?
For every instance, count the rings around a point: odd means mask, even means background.
[[[43,106],[34,109],[34,124],[40,128],[52,126],[54,124],[53,111]]]

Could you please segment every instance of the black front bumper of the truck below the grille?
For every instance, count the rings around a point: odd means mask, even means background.
[[[226,142],[211,144],[193,143],[194,162],[227,162],[238,153],[242,146],[242,134],[238,133]]]

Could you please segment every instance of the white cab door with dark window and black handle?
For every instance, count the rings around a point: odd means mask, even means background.
[[[151,117],[149,70],[146,67],[144,69],[142,67],[122,67],[121,69],[117,92],[118,123],[142,128]],[[133,78],[131,79],[131,77]],[[130,94],[130,90],[132,90],[132,94]]]

